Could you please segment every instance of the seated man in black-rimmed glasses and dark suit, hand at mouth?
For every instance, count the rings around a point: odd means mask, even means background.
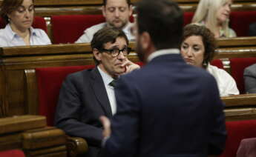
[[[70,74],[62,84],[56,109],[56,126],[69,136],[88,141],[88,156],[96,157],[102,142],[99,116],[116,113],[114,80],[140,68],[127,59],[128,39],[122,30],[104,27],[91,41],[96,67]]]

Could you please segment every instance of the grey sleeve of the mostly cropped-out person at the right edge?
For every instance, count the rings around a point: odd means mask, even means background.
[[[256,93],[256,64],[252,64],[243,72],[246,93]]]

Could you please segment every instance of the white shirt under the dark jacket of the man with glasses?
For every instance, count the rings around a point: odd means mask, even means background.
[[[109,76],[107,73],[102,71],[99,68],[99,66],[97,68],[99,70],[100,75],[102,76],[102,80],[104,82],[105,89],[107,90],[108,100],[111,104],[112,114],[114,115],[116,113],[116,97],[115,97],[115,93],[114,93],[114,87],[109,85],[109,83],[111,83],[111,81],[113,81],[114,79],[111,76]]]

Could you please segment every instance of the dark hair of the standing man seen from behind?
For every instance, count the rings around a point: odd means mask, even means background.
[[[179,48],[183,35],[183,11],[171,0],[142,0],[137,3],[139,34],[148,32],[157,50]]]

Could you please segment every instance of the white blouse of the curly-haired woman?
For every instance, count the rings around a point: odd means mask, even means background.
[[[220,96],[238,95],[239,90],[232,76],[229,75],[225,70],[219,69],[218,67],[208,65],[206,70],[211,73],[217,81]]]

